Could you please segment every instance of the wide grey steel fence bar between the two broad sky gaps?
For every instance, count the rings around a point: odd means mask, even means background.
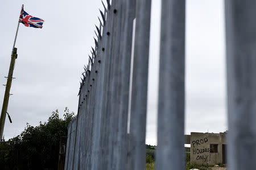
[[[185,0],[162,0],[156,169],[185,169]]]

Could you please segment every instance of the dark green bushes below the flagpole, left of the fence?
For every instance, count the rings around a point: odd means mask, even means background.
[[[64,119],[56,110],[48,122],[35,127],[27,123],[20,135],[0,144],[1,169],[57,169],[60,137],[67,136],[73,115],[66,107]]]

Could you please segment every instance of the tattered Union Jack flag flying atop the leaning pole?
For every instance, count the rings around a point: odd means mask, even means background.
[[[26,27],[42,28],[44,20],[29,15],[22,7],[19,15],[19,22],[23,23]]]

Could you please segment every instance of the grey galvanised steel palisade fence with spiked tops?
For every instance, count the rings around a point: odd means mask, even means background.
[[[68,127],[65,169],[141,170],[151,1],[107,0],[104,9],[82,74],[79,110]],[[256,167],[255,9],[254,1],[225,0],[232,170]],[[185,0],[162,0],[160,35],[156,169],[184,169]]]

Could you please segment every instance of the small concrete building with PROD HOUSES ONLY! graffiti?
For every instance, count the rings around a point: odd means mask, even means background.
[[[191,164],[226,164],[226,132],[191,132],[191,135],[185,135],[185,143],[191,144]]]

